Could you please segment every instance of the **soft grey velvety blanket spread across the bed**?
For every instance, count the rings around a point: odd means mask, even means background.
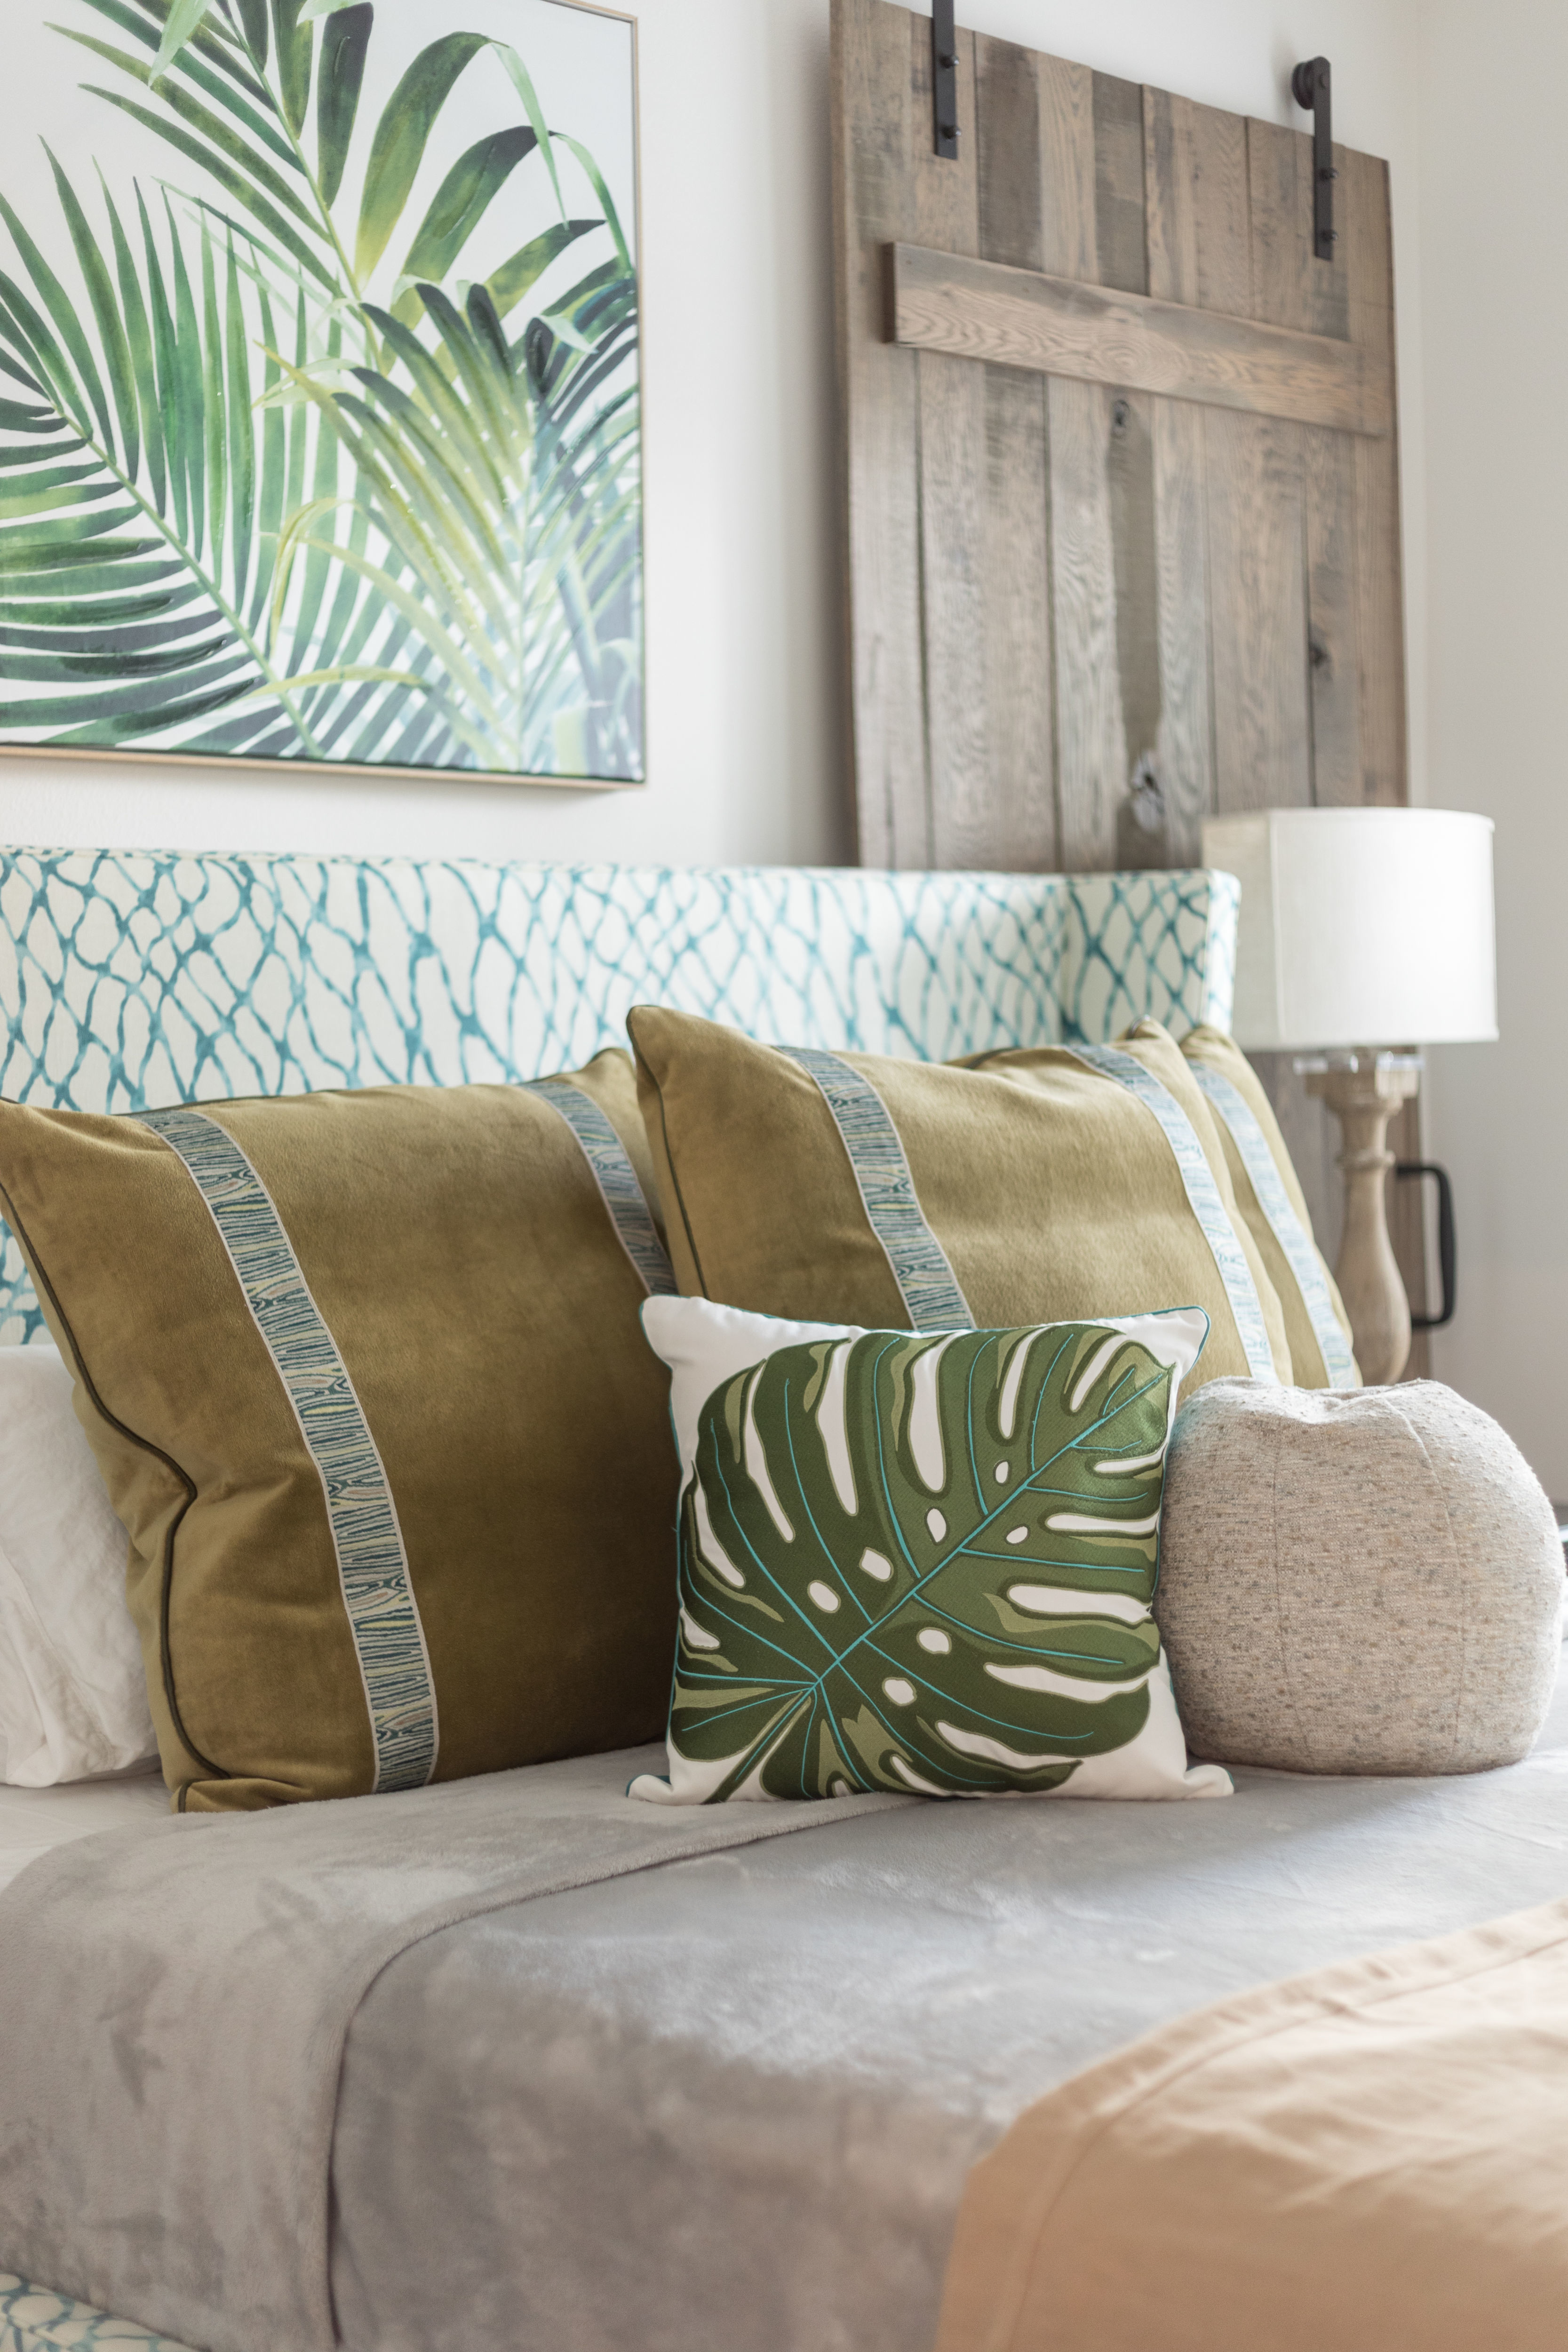
[[[1053,2084],[1568,1891],[1568,1691],[1512,1771],[1227,1804],[670,1816],[635,1762],[33,1865],[0,2267],[212,2352],[331,2305],[350,2352],[926,2352],[964,2176]]]

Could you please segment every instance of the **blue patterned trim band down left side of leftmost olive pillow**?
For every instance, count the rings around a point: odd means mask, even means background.
[[[282,1218],[235,1138],[200,1110],[146,1110],[212,1211],[327,1496],[376,1748],[376,1790],[423,1788],[440,1755],[435,1679],[386,1465]]]

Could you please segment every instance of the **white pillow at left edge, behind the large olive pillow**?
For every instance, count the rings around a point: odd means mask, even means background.
[[[0,1348],[0,1780],[52,1788],[158,1757],[125,1529],[56,1348]]]

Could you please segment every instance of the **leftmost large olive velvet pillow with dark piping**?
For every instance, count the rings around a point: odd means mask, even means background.
[[[129,1531],[181,1809],[658,1733],[646,1188],[618,1051],[534,1087],[0,1105],[0,1211]]]

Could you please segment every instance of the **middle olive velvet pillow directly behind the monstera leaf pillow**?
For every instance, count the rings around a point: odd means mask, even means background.
[[[630,1016],[686,1296],[938,1331],[1201,1308],[1192,1381],[1291,1381],[1194,1073],[1152,1021],[980,1065],[788,1051]]]

